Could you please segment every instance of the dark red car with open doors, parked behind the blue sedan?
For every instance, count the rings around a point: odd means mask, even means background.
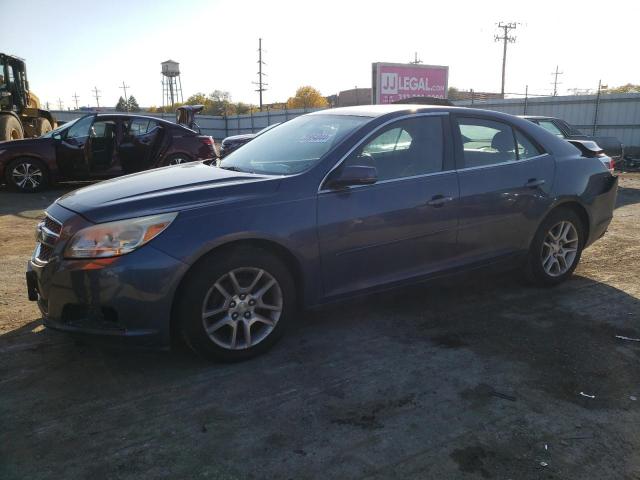
[[[215,157],[213,139],[186,126],[91,114],[39,138],[0,142],[0,179],[10,188],[36,192],[60,180],[99,180]]]

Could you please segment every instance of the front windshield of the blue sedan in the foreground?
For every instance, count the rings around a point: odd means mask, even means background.
[[[222,160],[220,168],[271,175],[300,173],[370,120],[348,115],[303,115],[257,136]]]

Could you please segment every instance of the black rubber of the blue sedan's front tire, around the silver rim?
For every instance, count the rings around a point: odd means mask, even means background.
[[[281,293],[280,304],[281,313],[279,318],[275,322],[275,326],[269,327],[260,322],[256,322],[253,326],[250,326],[251,339],[260,338],[264,335],[262,340],[258,340],[253,346],[251,343],[247,348],[243,345],[246,341],[246,334],[244,333],[244,321],[242,319],[242,313],[236,317],[239,317],[235,323],[235,329],[233,323],[224,325],[219,330],[215,330],[215,335],[228,335],[228,338],[233,338],[234,342],[238,342],[237,345],[240,348],[232,349],[225,348],[216,343],[205,330],[205,322],[211,326],[214,322],[225,323],[224,318],[229,320],[232,318],[233,313],[226,307],[233,304],[229,301],[225,301],[225,296],[220,293],[220,290],[215,288],[216,283],[223,286],[223,290],[228,293],[229,299],[234,295],[232,290],[233,286],[225,283],[229,279],[226,276],[229,272],[236,272],[235,275],[238,278],[238,282],[243,286],[250,285],[252,282],[243,281],[240,282],[240,275],[242,275],[245,269],[257,269],[263,270],[261,283],[257,284],[256,289],[260,290],[264,288],[268,279],[273,279],[277,283],[272,287],[271,292],[275,291]],[[238,273],[239,272],[239,273]],[[226,276],[226,277],[225,277]],[[279,288],[279,290],[278,290]],[[253,290],[252,290],[253,291]],[[205,303],[209,302],[212,298],[210,292],[214,292],[213,295],[219,295],[222,303]],[[285,264],[275,255],[260,248],[250,247],[236,247],[230,249],[223,249],[219,252],[214,252],[204,257],[198,262],[193,269],[189,272],[188,277],[181,286],[177,299],[176,309],[174,310],[174,321],[179,322],[178,326],[185,343],[189,345],[198,355],[210,360],[217,360],[223,362],[236,362],[246,360],[248,358],[259,355],[269,348],[271,348],[283,335],[288,324],[291,322],[296,311],[296,291],[293,283],[291,273]],[[237,307],[244,308],[244,303],[240,303],[242,297],[233,297],[236,299]],[[248,297],[247,297],[248,298]],[[258,298],[258,297],[255,297]],[[261,297],[264,300],[264,296]],[[246,300],[246,299],[245,299]],[[264,303],[274,303],[273,301]],[[254,302],[255,304],[255,302]],[[263,314],[265,316],[270,315],[269,311],[261,311],[260,301],[257,306],[254,307],[256,313]],[[212,306],[213,305],[213,306]],[[217,305],[217,306],[215,306]],[[246,305],[251,305],[248,303]],[[226,306],[226,307],[225,307]],[[224,311],[219,314],[219,317],[215,317],[214,320],[203,320],[203,312],[205,310],[215,310],[216,308],[222,308]],[[246,314],[246,312],[245,312]],[[277,315],[277,314],[274,314]],[[272,330],[269,329],[273,328]],[[232,337],[233,332],[236,332],[237,337]],[[265,332],[268,332],[265,334]],[[223,340],[224,342],[224,340]],[[229,340],[229,343],[231,340]]]

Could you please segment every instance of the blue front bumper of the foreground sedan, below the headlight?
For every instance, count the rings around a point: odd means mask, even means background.
[[[37,297],[46,327],[118,343],[170,346],[171,307],[188,265],[152,244],[94,260],[64,259],[63,248],[56,245],[47,263],[32,258],[27,265],[29,296]]]

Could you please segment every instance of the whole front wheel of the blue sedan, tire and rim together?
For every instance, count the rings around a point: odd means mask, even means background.
[[[283,262],[242,247],[209,255],[194,267],[180,289],[176,314],[184,340],[197,354],[235,362],[271,348],[295,304]]]

